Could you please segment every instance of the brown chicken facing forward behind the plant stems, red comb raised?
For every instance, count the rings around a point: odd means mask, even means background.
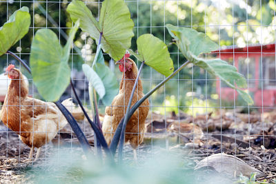
[[[108,145],[110,145],[112,137],[119,125],[121,119],[126,113],[130,94],[132,92],[135,79],[137,77],[137,66],[134,61],[127,58],[129,55],[117,61],[119,70],[123,72],[119,94],[115,96],[110,106],[106,107],[106,114],[103,119],[103,134]],[[141,79],[138,80],[137,88],[132,99],[131,105],[134,105],[144,96]],[[143,142],[144,133],[146,132],[146,116],[148,115],[149,102],[148,99],[141,104],[135,111],[126,125],[125,143],[128,141],[133,149],[134,159],[137,159],[136,148]]]

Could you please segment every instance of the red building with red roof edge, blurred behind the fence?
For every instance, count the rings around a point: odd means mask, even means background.
[[[250,45],[245,48],[228,47],[213,52],[228,63],[235,62],[239,73],[248,79],[248,90],[255,106],[273,107],[276,104],[275,44]],[[217,81],[217,94],[221,99],[233,101],[237,92]]]

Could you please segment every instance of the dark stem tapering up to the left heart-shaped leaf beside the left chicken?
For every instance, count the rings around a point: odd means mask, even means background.
[[[104,139],[104,136],[101,133],[101,131],[99,130],[99,128],[97,127],[97,125],[91,121],[88,114],[86,113],[86,110],[84,110],[83,105],[82,105],[81,101],[79,100],[79,96],[77,96],[77,92],[74,88],[74,85],[72,84],[72,80],[70,80],[70,83],[71,83],[71,86],[72,86],[72,90],[73,90],[73,92],[76,96],[77,102],[79,103],[79,106],[81,107],[81,110],[83,111],[84,116],[86,116],[86,119],[90,123],[92,129],[94,130],[94,132],[97,136],[97,138],[99,139],[99,143],[101,143],[101,145],[103,146],[103,149],[105,150],[106,154],[109,155],[110,158],[111,158],[110,150],[108,148],[108,144],[106,143],[106,139]]]

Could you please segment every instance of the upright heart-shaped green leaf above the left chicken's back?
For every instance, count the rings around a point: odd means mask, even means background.
[[[72,41],[79,22],[71,29],[64,48],[52,30],[38,30],[34,36],[30,53],[32,78],[39,94],[47,101],[57,101],[70,83],[68,59]]]

